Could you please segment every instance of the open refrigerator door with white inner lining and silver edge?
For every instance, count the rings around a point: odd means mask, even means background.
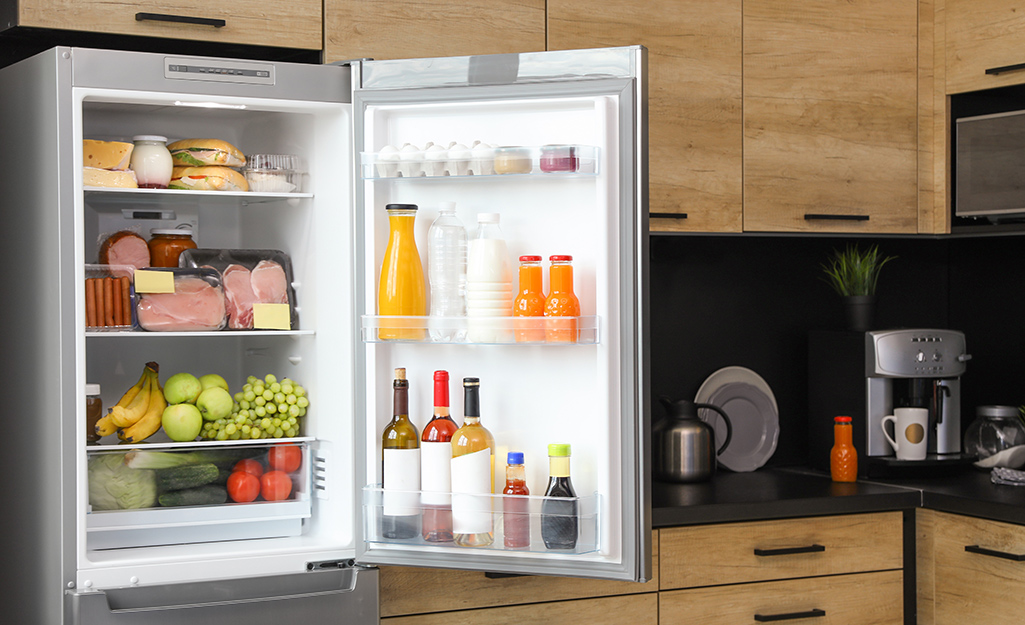
[[[601,265],[603,260],[607,260],[607,265],[599,266],[594,269],[592,277],[606,277],[614,283],[612,295],[609,297],[607,307],[608,325],[612,327],[602,328],[601,344],[597,346],[597,357],[592,361],[586,361],[585,366],[593,366],[598,373],[594,378],[588,380],[589,388],[606,391],[605,385],[609,389],[608,397],[612,398],[613,405],[602,406],[603,417],[599,417],[597,422],[588,422],[582,414],[574,415],[578,419],[580,427],[593,427],[599,430],[606,430],[609,436],[608,449],[601,445],[596,446],[593,455],[605,454],[609,457],[609,465],[616,467],[616,474],[611,476],[612,485],[610,492],[599,492],[601,505],[609,505],[606,512],[599,515],[600,532],[608,531],[612,533],[609,544],[600,545],[594,552],[587,554],[560,554],[552,555],[544,552],[542,548],[534,548],[533,553],[517,554],[501,549],[489,551],[487,549],[462,550],[458,547],[435,547],[430,545],[410,545],[402,544],[381,544],[369,542],[365,532],[366,528],[357,519],[357,560],[363,564],[399,565],[399,566],[424,566],[437,568],[452,568],[463,570],[479,570],[490,572],[504,572],[514,574],[544,574],[574,577],[592,577],[617,580],[638,580],[643,581],[650,577],[650,471],[648,468],[649,449],[645,432],[648,427],[649,415],[647,415],[647,376],[648,376],[648,355],[647,355],[647,256],[648,256],[648,204],[647,204],[647,144],[646,144],[646,83],[645,83],[646,52],[643,47],[610,48],[598,50],[575,50],[567,52],[541,52],[528,54],[508,54],[495,56],[458,57],[458,58],[432,58],[413,59],[398,61],[369,61],[362,64],[358,71],[354,73],[354,121],[357,124],[355,129],[355,143],[357,151],[374,152],[380,150],[379,143],[389,142],[381,140],[382,136],[391,137],[393,134],[398,140],[402,140],[400,135],[407,133],[416,135],[419,144],[427,136],[434,141],[458,138],[458,133],[467,134],[469,132],[486,133],[494,131],[493,134],[502,134],[495,128],[501,125],[515,124],[512,117],[519,114],[519,109],[537,110],[540,116],[544,116],[545,101],[557,102],[551,105],[557,115],[572,116],[567,114],[568,109],[572,109],[573,102],[584,102],[583,108],[587,108],[588,101],[594,103],[593,109],[601,110],[601,114],[596,114],[597,122],[592,126],[598,128],[597,140],[604,142],[609,149],[608,160],[604,165],[608,165],[608,171],[603,172],[601,180],[594,183],[599,189],[597,205],[599,208],[593,213],[588,213],[594,221],[602,222],[598,226],[598,232],[607,236],[607,239],[598,240],[601,243],[596,245],[608,245],[614,248],[614,252],[607,255],[598,253]],[[456,105],[455,109],[448,113],[439,113],[446,106]],[[569,103],[567,103],[569,102]],[[490,107],[490,109],[488,109]],[[505,107],[503,109],[503,107]],[[487,122],[481,123],[475,120],[475,112],[479,109],[487,109],[491,115],[491,126]],[[408,113],[408,115],[407,115]],[[503,117],[508,113],[508,118]],[[594,111],[586,111],[591,114]],[[602,115],[608,114],[605,117]],[[394,122],[395,118],[406,115],[407,119]],[[448,116],[448,117],[443,117]],[[563,119],[569,119],[564,117]],[[389,121],[392,120],[392,121]],[[523,118],[518,118],[523,121]],[[388,134],[387,130],[380,130],[381,127],[393,123],[399,130]],[[474,125],[476,123],[476,126]],[[467,130],[467,128],[475,130]],[[547,136],[560,134],[559,128]],[[375,135],[376,133],[376,135]],[[508,131],[505,136],[510,136]],[[534,138],[541,134],[534,133]],[[485,136],[474,134],[470,138],[486,139]],[[414,139],[407,139],[414,140]],[[505,139],[508,140],[508,139]],[[468,145],[468,141],[464,141]],[[549,142],[549,141],[543,141]],[[560,141],[552,141],[560,142]],[[509,144],[509,143],[498,143]],[[524,144],[524,143],[520,143]],[[359,154],[357,155],[359,158]],[[364,161],[366,165],[366,160]],[[603,166],[604,166],[603,165]],[[373,176],[372,172],[365,170],[365,176]],[[383,204],[385,201],[392,202],[416,202],[417,197],[429,198],[430,201],[446,199],[444,193],[438,189],[452,189],[451,200],[457,204],[461,197],[477,194],[478,206],[476,210],[485,211],[496,210],[489,204],[487,194],[482,191],[483,185],[498,184],[493,187],[499,190],[492,195],[495,198],[501,195],[503,184],[512,184],[508,178],[510,176],[490,176],[490,180],[505,178],[500,181],[489,181],[487,176],[469,176],[478,180],[465,180],[464,182],[449,182],[445,178],[436,177],[434,180],[418,178],[408,182],[389,180],[364,180],[357,181],[356,198],[356,225],[355,232],[361,240],[354,242],[356,247],[364,247],[364,256],[357,260],[357,306],[358,314],[373,315],[376,302],[373,301],[373,293],[376,284],[371,284],[376,277],[379,267],[371,266],[375,260],[372,251],[367,251],[369,247],[381,247],[381,215],[383,214]],[[515,176],[514,176],[515,177]],[[451,180],[451,178],[448,178]],[[521,178],[523,179],[523,178]],[[525,185],[530,184],[558,184],[552,178],[543,176],[534,178],[535,181],[527,180]],[[468,184],[473,191],[465,192]],[[455,186],[447,186],[452,185]],[[584,183],[581,183],[584,184]],[[383,186],[382,186],[383,185]],[[395,186],[393,186],[395,185]],[[412,186],[410,186],[412,185]],[[440,186],[443,185],[443,186]],[[399,186],[403,189],[399,190]],[[383,191],[380,191],[381,189]],[[545,186],[546,190],[556,196],[564,192],[564,189]],[[591,193],[590,187],[583,186],[587,193]],[[607,193],[607,196],[602,196]],[[376,194],[376,195],[375,195]],[[482,196],[484,197],[482,200]],[[426,204],[425,204],[426,205]],[[606,207],[607,212],[602,213],[602,208]],[[421,209],[423,207],[421,206]],[[514,214],[511,207],[509,214]],[[430,213],[421,210],[422,217],[426,219],[417,225],[420,235],[429,223]],[[504,224],[505,213],[503,213]],[[563,218],[560,216],[560,218]],[[374,222],[376,221],[376,225]],[[465,218],[463,224],[467,228],[474,226]],[[560,224],[564,225],[564,224]],[[386,230],[385,230],[386,232]],[[369,233],[369,234],[368,234]],[[581,238],[587,237],[589,232],[584,228],[583,233],[563,233],[563,243],[577,244]],[[420,236],[418,235],[418,236]],[[574,235],[576,235],[574,237]],[[376,242],[374,239],[376,238]],[[540,244],[540,241],[536,243]],[[558,245],[559,241],[545,241],[545,245],[552,243]],[[510,243],[510,246],[512,244]],[[379,252],[380,250],[378,250]],[[520,252],[536,253],[536,252]],[[562,253],[562,252],[549,252]],[[426,258],[426,251],[420,248],[421,257]],[[510,255],[515,258],[510,247]],[[515,264],[515,263],[514,263]],[[426,265],[424,265],[426,266]],[[609,278],[611,276],[611,278]],[[605,285],[599,284],[597,289],[601,290]],[[598,297],[601,300],[601,296]],[[598,307],[601,308],[601,302]],[[417,346],[383,346],[376,347],[364,343],[363,349],[358,349],[357,372],[357,458],[358,478],[362,480],[362,485],[372,485],[378,475],[375,474],[375,464],[378,462],[375,457],[374,448],[379,446],[376,443],[380,435],[382,419],[386,422],[391,408],[391,380],[383,379],[391,373],[388,367],[405,366],[408,362],[412,367],[409,372],[420,376],[420,388],[427,387],[423,383],[424,373],[429,375],[429,371],[437,368],[444,368],[449,365],[454,369],[468,369],[459,362],[460,355],[453,350],[458,350],[458,346],[430,346],[421,345],[428,355],[422,359],[420,353],[415,352]],[[407,348],[408,347],[408,348]],[[524,356],[524,349],[532,347],[498,346],[497,350],[486,353],[492,346],[466,346],[461,352],[467,361],[477,359],[475,365],[483,365],[490,362],[504,361],[506,357],[515,356],[521,359],[518,365],[524,364],[530,358]],[[558,364],[557,353],[570,355],[577,347],[536,347],[541,350],[548,349],[545,356],[538,358],[535,363],[544,367],[547,363],[550,380],[562,381],[561,370]],[[376,349],[392,350],[386,357]],[[432,351],[434,350],[434,351]],[[535,356],[540,352],[534,352]],[[579,351],[566,358],[575,358]],[[489,356],[490,355],[490,356]],[[550,356],[551,358],[547,358]],[[408,357],[408,358],[407,358]],[[587,357],[590,358],[590,357]],[[603,360],[605,359],[605,360]],[[387,361],[382,364],[382,361]],[[509,361],[514,362],[514,361]],[[574,361],[579,362],[579,361]],[[509,365],[512,367],[514,365]],[[529,366],[529,365],[528,365]],[[497,367],[497,366],[495,366]],[[522,369],[520,369],[522,371]],[[494,371],[492,373],[496,373]],[[468,371],[465,375],[474,375]],[[458,378],[462,374],[453,372],[453,383],[451,385],[451,406],[452,414],[456,422],[461,421],[461,395]],[[603,377],[604,376],[604,377]],[[514,379],[514,378],[509,378]],[[490,380],[493,384],[500,384],[506,380],[493,376]],[[485,381],[482,379],[482,398],[488,392],[497,392],[485,388]],[[411,381],[411,393],[416,382]],[[593,384],[598,384],[594,386]],[[385,388],[386,387],[386,388]],[[497,386],[491,386],[495,389]],[[573,393],[587,393],[588,387],[569,388]],[[382,390],[383,389],[383,390]],[[503,389],[504,390],[504,389]],[[429,413],[430,398],[429,390],[420,390],[418,398],[419,414],[415,421],[419,426],[426,421]],[[523,394],[523,393],[521,393]],[[386,397],[385,397],[386,395]],[[495,395],[492,395],[495,397]],[[505,398],[508,397],[506,392]],[[604,395],[603,395],[604,397]],[[411,407],[416,402],[411,394]],[[482,399],[482,404],[486,403]],[[547,406],[541,399],[535,400],[534,413],[543,413]],[[522,408],[522,407],[520,407]],[[565,408],[562,406],[561,408]],[[483,410],[483,408],[482,408]],[[511,410],[511,408],[509,408]],[[411,408],[411,417],[412,417]],[[520,411],[524,414],[528,411]],[[533,415],[536,417],[537,415]],[[552,420],[560,420],[562,415],[549,415]],[[607,421],[604,417],[608,417]],[[488,424],[488,417],[483,419]],[[506,422],[499,427],[504,427],[508,431],[509,424],[514,421],[506,418]],[[555,421],[549,421],[549,423]],[[494,421],[492,421],[494,423]],[[535,418],[534,424],[538,420]],[[362,431],[361,431],[362,428]],[[376,431],[374,431],[376,430]],[[551,435],[551,431],[542,432],[540,429],[532,429],[535,439]],[[496,440],[501,437],[502,432],[496,434]],[[519,434],[520,440],[524,439],[523,432]],[[366,443],[361,448],[359,442]],[[551,442],[548,440],[547,442]],[[519,443],[518,443],[519,444]],[[499,443],[500,445],[500,443]],[[509,448],[517,449],[517,448]],[[574,447],[574,449],[577,449]],[[546,483],[547,460],[543,458],[543,451],[540,448],[535,450],[530,462],[533,463],[533,470],[543,471]],[[504,466],[504,454],[496,454],[494,459],[495,472],[498,473],[499,466]],[[575,466],[584,467],[586,458],[579,460],[580,464]],[[606,459],[599,460],[605,462]],[[543,464],[543,466],[542,466]],[[574,469],[577,470],[577,469]],[[584,469],[580,469],[581,473]],[[580,475],[581,473],[578,473]],[[535,474],[531,485],[531,494],[543,494],[543,483],[539,475]],[[500,480],[498,481],[501,482]],[[500,492],[500,484],[498,490]],[[540,489],[541,492],[537,492]],[[579,491],[579,487],[578,487]],[[584,494],[584,493],[581,493]],[[608,501],[613,503],[609,504]],[[367,506],[365,504],[365,508]],[[366,520],[366,519],[364,519]],[[372,523],[372,520],[366,520]],[[369,528],[371,526],[367,526]],[[606,535],[608,536],[608,535]],[[496,541],[497,542],[497,541]],[[611,545],[611,546],[610,546]]]

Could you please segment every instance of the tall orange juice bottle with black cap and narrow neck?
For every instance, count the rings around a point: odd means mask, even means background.
[[[377,314],[423,317],[427,314],[423,265],[413,239],[417,207],[415,204],[388,204],[384,208],[391,233],[381,264]],[[424,325],[422,321],[381,319],[377,335],[389,340],[422,340]]]

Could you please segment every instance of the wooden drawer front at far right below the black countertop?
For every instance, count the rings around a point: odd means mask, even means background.
[[[944,512],[933,520],[936,625],[1021,623],[1025,528]]]

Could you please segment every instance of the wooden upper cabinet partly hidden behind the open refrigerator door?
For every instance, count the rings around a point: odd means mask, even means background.
[[[742,228],[741,17],[740,0],[548,0],[548,49],[648,48],[652,231]]]

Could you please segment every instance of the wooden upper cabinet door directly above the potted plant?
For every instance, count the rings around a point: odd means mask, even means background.
[[[743,11],[744,231],[917,233],[917,3]]]

